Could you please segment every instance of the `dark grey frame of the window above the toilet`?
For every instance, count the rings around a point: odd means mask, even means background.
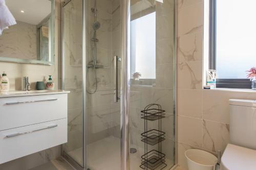
[[[209,69],[216,70],[217,0],[209,0]],[[218,75],[217,75],[218,76]],[[250,79],[218,79],[217,88],[251,88]]]

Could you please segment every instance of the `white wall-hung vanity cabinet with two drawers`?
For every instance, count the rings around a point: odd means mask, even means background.
[[[67,142],[67,93],[0,94],[0,164]]]

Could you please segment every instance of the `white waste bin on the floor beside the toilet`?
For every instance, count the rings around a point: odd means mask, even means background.
[[[217,157],[209,152],[191,149],[185,152],[188,170],[215,170]]]

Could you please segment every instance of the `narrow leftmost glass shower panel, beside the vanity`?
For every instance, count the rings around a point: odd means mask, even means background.
[[[83,166],[82,1],[63,2],[62,88],[68,94],[68,142],[63,152]]]

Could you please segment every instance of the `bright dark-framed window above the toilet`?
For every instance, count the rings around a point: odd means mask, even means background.
[[[256,1],[211,0],[210,69],[217,87],[250,88],[246,70],[256,66]]]

